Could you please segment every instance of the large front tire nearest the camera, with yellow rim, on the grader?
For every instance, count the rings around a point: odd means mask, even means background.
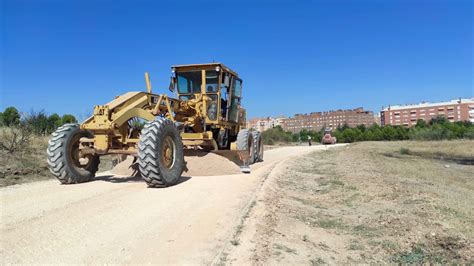
[[[138,165],[149,187],[176,184],[183,173],[181,136],[171,120],[157,118],[145,124],[138,143]]]

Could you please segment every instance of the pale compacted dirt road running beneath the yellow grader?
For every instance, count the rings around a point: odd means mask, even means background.
[[[165,189],[107,175],[2,188],[2,263],[216,262],[272,170],[320,149],[272,149],[250,175],[187,176]]]

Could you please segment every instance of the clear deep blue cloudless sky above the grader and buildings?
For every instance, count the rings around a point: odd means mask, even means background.
[[[249,117],[473,97],[472,1],[2,0],[0,109],[90,114],[219,61]]]

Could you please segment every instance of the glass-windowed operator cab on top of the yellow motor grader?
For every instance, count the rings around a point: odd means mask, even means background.
[[[238,122],[242,80],[221,63],[175,65],[171,67],[170,90],[177,89],[180,100],[205,99],[207,120]]]

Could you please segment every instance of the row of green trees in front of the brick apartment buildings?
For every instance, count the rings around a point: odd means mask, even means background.
[[[265,144],[272,145],[278,142],[306,142],[308,137],[319,142],[324,135],[324,129],[311,131],[303,129],[299,133],[284,131],[280,126],[268,129],[262,133]],[[357,141],[392,141],[392,140],[449,140],[474,139],[474,124],[470,121],[449,122],[445,117],[436,117],[429,122],[419,119],[415,126],[379,126],[369,127],[359,125],[349,127],[347,124],[338,126],[332,131],[337,142],[351,143]]]

